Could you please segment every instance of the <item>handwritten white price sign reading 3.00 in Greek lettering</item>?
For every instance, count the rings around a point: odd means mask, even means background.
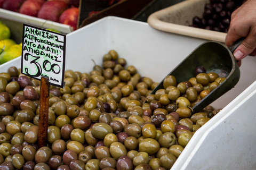
[[[66,35],[23,24],[21,73],[63,88]]]

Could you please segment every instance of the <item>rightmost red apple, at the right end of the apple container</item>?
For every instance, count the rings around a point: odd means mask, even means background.
[[[79,8],[77,7],[68,8],[66,11],[64,11],[60,15],[59,22],[62,24],[70,25],[75,31],[77,29],[78,15],[79,15]]]

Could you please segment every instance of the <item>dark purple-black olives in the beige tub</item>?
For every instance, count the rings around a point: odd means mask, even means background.
[[[247,0],[210,0],[202,16],[195,16],[191,27],[228,32],[231,13]]]

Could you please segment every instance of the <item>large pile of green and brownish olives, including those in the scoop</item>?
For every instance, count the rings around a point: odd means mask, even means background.
[[[189,107],[223,81],[205,73],[164,89],[126,66],[115,50],[90,73],[65,71],[50,87],[47,143],[38,146],[40,81],[0,73],[0,169],[170,169],[193,134],[220,110]],[[147,101],[147,102],[145,102]]]

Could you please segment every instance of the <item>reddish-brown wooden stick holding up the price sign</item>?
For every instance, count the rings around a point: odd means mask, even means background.
[[[39,148],[46,146],[49,114],[50,84],[49,77],[41,77],[40,109],[38,122],[38,145]]]

